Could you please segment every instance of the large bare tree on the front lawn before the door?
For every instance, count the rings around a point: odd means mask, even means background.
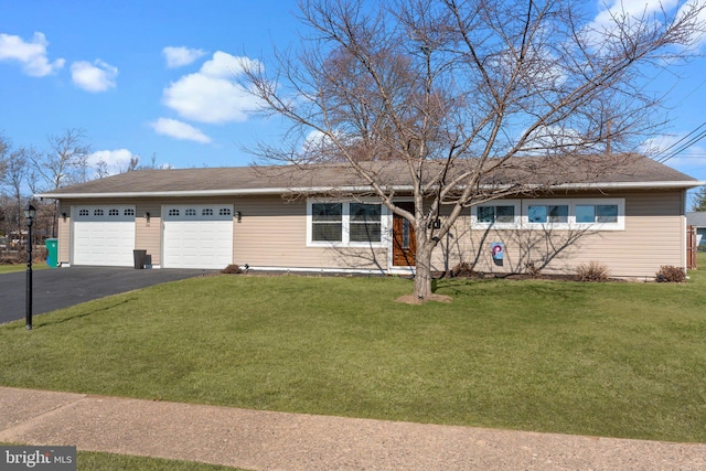
[[[663,125],[648,78],[688,58],[704,32],[702,0],[675,13],[612,11],[601,23],[574,0],[300,9],[300,50],[278,52],[271,68],[242,62],[265,114],[291,125],[252,151],[293,163],[292,175],[308,163],[352,170],[414,227],[420,299],[432,296],[432,250],[464,208],[546,190],[577,164],[600,174]],[[397,204],[400,174],[414,208]]]

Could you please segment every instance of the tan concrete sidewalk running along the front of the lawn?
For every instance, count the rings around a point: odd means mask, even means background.
[[[0,442],[247,470],[706,470],[706,443],[578,437],[0,388]]]

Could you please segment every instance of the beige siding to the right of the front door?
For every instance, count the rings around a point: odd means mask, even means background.
[[[560,196],[554,195],[553,199]],[[571,195],[569,197],[596,197]],[[435,269],[469,261],[478,271],[524,272],[528,264],[547,274],[575,274],[582,263],[598,261],[614,277],[652,279],[662,265],[684,265],[682,191],[611,194],[624,197],[624,231],[469,229],[470,215],[457,221],[452,237],[435,253]],[[492,259],[491,243],[505,244],[502,264]]]

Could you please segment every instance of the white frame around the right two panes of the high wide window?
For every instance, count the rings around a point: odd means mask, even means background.
[[[569,207],[566,223],[531,223],[530,206],[563,205]],[[577,223],[576,206],[618,206],[618,221],[614,223]],[[622,197],[581,197],[581,199],[553,199],[553,200],[523,200],[522,226],[527,229],[588,229],[588,231],[624,231],[625,229],[625,199]]]

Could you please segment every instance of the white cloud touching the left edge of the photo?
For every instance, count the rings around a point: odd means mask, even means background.
[[[64,66],[63,58],[50,63],[46,57],[49,42],[42,33],[34,33],[30,42],[10,34],[0,34],[0,61],[17,61],[22,64],[25,74],[43,77]]]

